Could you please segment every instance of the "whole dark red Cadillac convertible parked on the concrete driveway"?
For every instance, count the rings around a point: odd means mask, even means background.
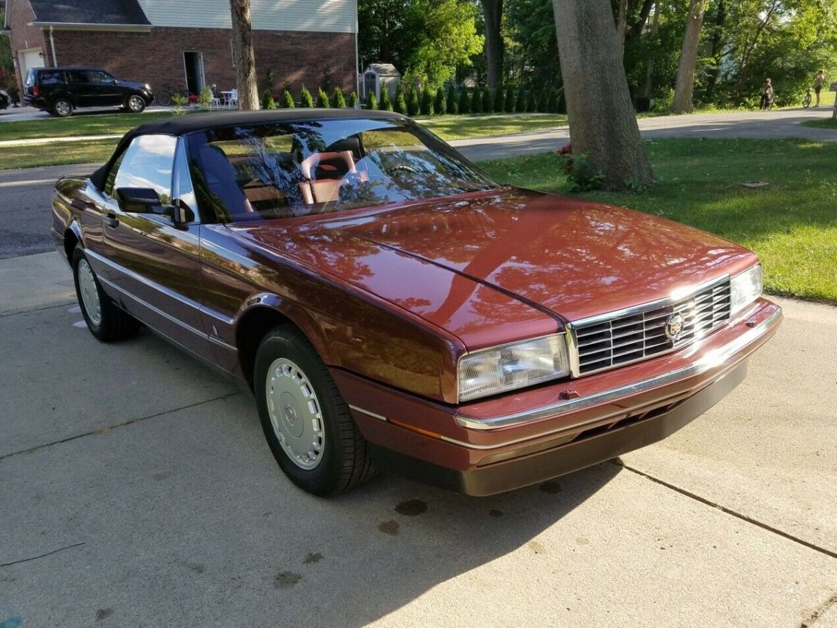
[[[376,468],[488,495],[648,445],[782,318],[750,251],[495,183],[388,113],[151,122],[53,208],[90,332],[247,383],[316,495]]]

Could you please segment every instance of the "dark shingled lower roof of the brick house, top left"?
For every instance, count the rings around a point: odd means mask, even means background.
[[[137,0],[29,0],[38,24],[151,26]]]

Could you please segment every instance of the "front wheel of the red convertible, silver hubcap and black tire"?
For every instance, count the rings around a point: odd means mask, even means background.
[[[296,486],[336,495],[374,474],[346,401],[301,332],[282,326],[264,337],[254,391],[270,450]]]

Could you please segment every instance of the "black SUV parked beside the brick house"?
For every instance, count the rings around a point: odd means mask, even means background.
[[[118,80],[98,68],[32,68],[23,84],[23,102],[61,118],[80,107],[118,106],[140,113],[152,100],[147,83]]]

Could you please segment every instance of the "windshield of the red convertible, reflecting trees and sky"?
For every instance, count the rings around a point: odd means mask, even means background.
[[[284,219],[476,192],[497,185],[406,119],[294,121],[187,137],[203,215]]]

